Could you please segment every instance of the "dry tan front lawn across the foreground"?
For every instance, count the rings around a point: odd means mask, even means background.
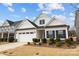
[[[1,52],[9,56],[79,56],[79,46],[74,49],[23,45]]]

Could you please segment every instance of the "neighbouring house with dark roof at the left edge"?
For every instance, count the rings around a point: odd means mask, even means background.
[[[6,20],[2,26],[0,26],[0,38],[14,38],[15,37],[15,30],[17,26],[22,21],[10,21]]]

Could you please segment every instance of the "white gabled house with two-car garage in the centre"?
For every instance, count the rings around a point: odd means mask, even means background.
[[[61,40],[68,38],[69,26],[54,16],[40,14],[34,21],[23,20],[15,31],[18,42],[32,42],[33,38],[54,38],[60,36]]]

